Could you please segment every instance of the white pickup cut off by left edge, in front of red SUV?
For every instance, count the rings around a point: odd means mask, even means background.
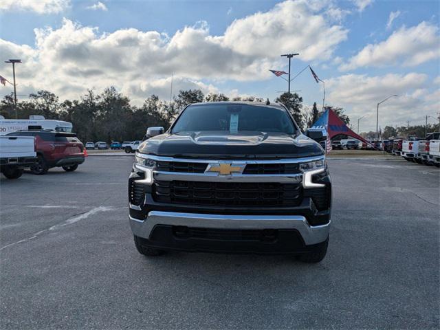
[[[0,136],[0,171],[8,179],[18,179],[25,167],[36,163],[35,138]]]

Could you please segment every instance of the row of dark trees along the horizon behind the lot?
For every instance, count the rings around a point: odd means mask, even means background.
[[[17,102],[19,119],[28,119],[30,115],[43,115],[46,119],[72,122],[74,132],[80,140],[86,141],[132,141],[140,140],[148,126],[164,126],[168,129],[180,109],[186,104],[218,101],[263,102],[264,98],[249,96],[229,98],[224,94],[203,94],[200,89],[181,90],[166,102],[152,95],[140,107],[130,103],[127,96],[118,92],[115,87],[104,89],[101,94],[93,90],[78,100],[64,100],[50,91],[41,90],[30,94],[28,100]],[[289,111],[301,129],[311,126],[320,116],[316,102],[312,109],[303,106],[303,98],[296,93],[283,93],[275,102],[289,104]],[[342,108],[332,108],[349,124],[349,117]],[[14,98],[12,94],[0,100],[0,115],[6,119],[15,118]]]

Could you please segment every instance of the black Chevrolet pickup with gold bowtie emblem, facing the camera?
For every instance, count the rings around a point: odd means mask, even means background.
[[[282,104],[190,104],[168,131],[151,127],[147,135],[129,177],[130,225],[141,254],[324,259],[331,214],[325,152]]]

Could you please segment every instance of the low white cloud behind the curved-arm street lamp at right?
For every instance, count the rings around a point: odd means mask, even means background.
[[[346,74],[326,80],[326,103],[346,109],[353,124],[357,118],[369,114],[362,120],[361,130],[374,131],[377,103],[393,94],[398,97],[380,104],[379,125],[382,128],[406,120],[414,121],[432,113],[432,109],[439,109],[439,91],[429,91],[428,86],[428,76],[414,72],[384,76]]]

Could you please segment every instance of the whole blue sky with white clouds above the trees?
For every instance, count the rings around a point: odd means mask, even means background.
[[[174,88],[276,98],[287,83],[280,55],[298,52],[325,80],[326,104],[343,107],[361,131],[435,122],[440,111],[439,1],[1,0],[0,75],[19,98],[47,89],[62,100],[114,85],[142,104]],[[305,104],[322,104],[308,70],[292,81]],[[0,85],[1,96],[12,91]],[[356,127],[353,126],[355,129]]]

